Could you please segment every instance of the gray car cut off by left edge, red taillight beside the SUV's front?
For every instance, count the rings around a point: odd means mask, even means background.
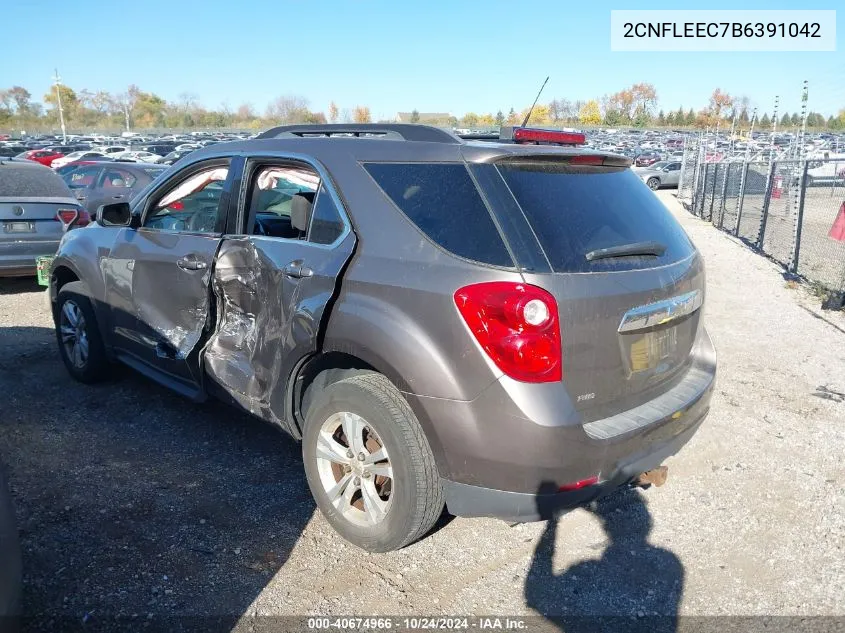
[[[53,255],[70,227],[89,221],[52,169],[0,159],[0,277],[34,275],[38,257]]]

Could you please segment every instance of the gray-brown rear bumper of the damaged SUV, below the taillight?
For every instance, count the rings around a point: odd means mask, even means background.
[[[586,424],[566,390],[551,383],[526,391],[499,381],[471,402],[407,397],[435,436],[452,514],[536,520],[543,508],[588,503],[677,453],[707,416],[715,377],[715,350],[702,328],[673,387]],[[557,493],[591,477],[599,483]]]

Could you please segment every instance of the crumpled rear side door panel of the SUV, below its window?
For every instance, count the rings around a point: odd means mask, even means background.
[[[203,352],[208,378],[251,413],[290,428],[291,371],[317,350],[354,248],[351,232],[330,248],[272,237],[224,239],[212,279],[217,326]],[[290,264],[313,274],[292,277],[285,272]]]

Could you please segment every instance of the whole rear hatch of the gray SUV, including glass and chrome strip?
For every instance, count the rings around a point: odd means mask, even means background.
[[[510,157],[496,165],[553,271],[525,279],[558,302],[563,382],[590,421],[682,378],[701,318],[704,267],[680,224],[629,168],[570,161]]]

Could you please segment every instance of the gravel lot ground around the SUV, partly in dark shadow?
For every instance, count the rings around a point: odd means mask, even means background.
[[[72,382],[38,287],[0,281],[0,455],[26,629],[191,622],[177,615],[219,616],[207,630],[260,614],[845,616],[845,318],[660,196],[705,255],[720,360],[710,418],[666,486],[548,525],[444,521],[389,555],[333,534],[298,445],[273,428],[129,371]]]

